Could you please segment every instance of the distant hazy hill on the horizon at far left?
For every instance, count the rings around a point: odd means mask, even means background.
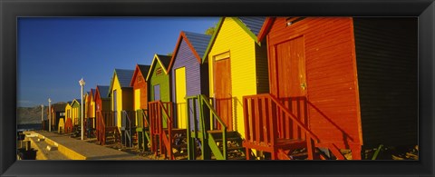
[[[60,102],[63,103],[63,102]],[[53,103],[55,105],[58,103]],[[43,107],[43,120],[47,120],[48,106]],[[41,123],[41,106],[34,107],[17,107],[16,108],[16,123],[30,124]]]

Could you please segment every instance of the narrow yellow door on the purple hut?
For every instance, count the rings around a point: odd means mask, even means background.
[[[186,127],[186,68],[181,67],[175,70],[175,103],[177,106],[178,128]]]

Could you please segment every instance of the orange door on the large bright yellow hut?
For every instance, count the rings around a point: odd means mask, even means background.
[[[218,115],[227,125],[227,130],[233,130],[231,68],[229,57],[215,59],[215,98]]]

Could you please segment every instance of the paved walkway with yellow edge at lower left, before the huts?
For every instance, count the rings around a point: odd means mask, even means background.
[[[34,131],[34,133],[38,133],[38,137],[31,138],[32,141],[36,143],[38,138],[41,140],[38,142],[40,145],[36,146],[42,151],[45,149],[45,152],[43,152],[46,154],[48,160],[58,160],[56,158],[71,160],[150,160],[140,155],[77,140],[65,134],[48,133],[44,131]],[[46,145],[53,146],[54,150],[46,150]],[[34,146],[34,144],[32,144],[32,146]],[[55,147],[57,147],[57,149]],[[59,154],[63,156],[59,156]]]

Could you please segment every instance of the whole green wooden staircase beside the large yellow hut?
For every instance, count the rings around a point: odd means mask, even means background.
[[[197,114],[199,109],[199,115]],[[188,151],[189,160],[197,158],[197,143],[200,143],[203,160],[242,160],[246,159],[242,138],[236,131],[227,131],[210,99],[203,94],[187,97]],[[189,114],[189,110],[194,110]]]

